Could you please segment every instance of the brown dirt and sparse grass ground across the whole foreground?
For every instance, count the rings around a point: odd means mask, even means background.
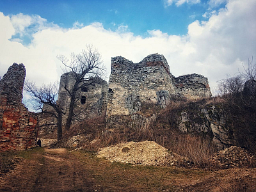
[[[0,174],[0,191],[252,192],[256,189],[256,168],[209,172],[175,166],[134,166],[111,163],[86,150],[69,152],[65,148],[38,147],[14,152],[10,159],[15,156],[21,161],[14,170],[4,173],[2,179]]]

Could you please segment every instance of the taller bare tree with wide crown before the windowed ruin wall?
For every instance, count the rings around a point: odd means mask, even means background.
[[[93,81],[97,81],[99,78],[92,77],[101,76],[104,69],[100,53],[92,45],[86,45],[86,50],[83,50],[80,54],[72,53],[70,61],[63,55],[58,55],[57,58],[65,66],[64,72],[71,72],[70,74],[75,80],[71,86],[68,86],[66,83],[64,87],[70,97],[68,117],[65,125],[65,130],[68,131],[74,116],[74,105],[78,100],[78,90],[84,83],[95,83]]]

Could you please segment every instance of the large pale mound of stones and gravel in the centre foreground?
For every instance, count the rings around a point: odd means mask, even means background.
[[[120,163],[141,164],[147,166],[179,165],[188,163],[187,157],[169,152],[167,148],[154,141],[129,142],[100,148],[97,157]]]

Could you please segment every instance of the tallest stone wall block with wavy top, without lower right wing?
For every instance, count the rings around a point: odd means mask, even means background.
[[[130,115],[141,109],[141,103],[165,106],[176,94],[173,76],[162,55],[152,54],[140,63],[118,56],[111,59],[107,116]]]

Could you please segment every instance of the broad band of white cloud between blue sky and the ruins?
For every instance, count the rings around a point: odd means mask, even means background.
[[[208,77],[210,86],[214,87],[216,81],[226,74],[237,73],[242,63],[246,64],[248,58],[255,56],[255,8],[255,0],[232,0],[208,21],[196,20],[189,24],[185,36],[168,35],[155,29],[148,31],[147,38],[135,36],[128,26],[111,31],[99,22],[71,29],[49,24],[44,19],[38,19],[40,24],[35,24],[32,15],[31,23],[37,31],[33,33],[31,44],[26,46],[19,39],[8,39],[31,28],[29,17],[19,15],[24,20],[18,22],[18,19],[13,21],[13,16],[0,13],[0,23],[4,26],[0,28],[0,76],[17,62],[26,66],[26,79],[38,85],[58,81],[62,71],[56,55],[64,54],[69,58],[70,52],[79,53],[86,44],[93,44],[102,53],[108,73],[113,56],[140,62],[148,54],[158,52],[166,57],[174,76],[195,72]]]

